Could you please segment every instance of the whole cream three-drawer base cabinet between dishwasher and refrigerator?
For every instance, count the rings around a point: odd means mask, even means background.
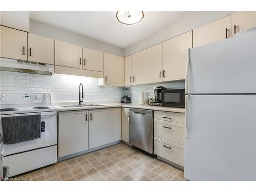
[[[154,111],[154,153],[184,166],[185,114]]]

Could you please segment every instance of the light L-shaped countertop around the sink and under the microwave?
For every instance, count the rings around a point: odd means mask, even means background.
[[[77,103],[74,103],[77,104]],[[82,103],[87,104],[87,103]],[[91,104],[91,103],[90,103]],[[147,109],[147,110],[156,110],[156,111],[167,111],[167,112],[177,112],[177,113],[185,113],[184,108],[169,108],[166,106],[151,106],[147,104],[138,104],[138,103],[98,103],[104,104],[104,106],[77,106],[72,108],[63,108],[61,105],[72,105],[70,102],[68,103],[54,103],[54,108],[58,111],[75,111],[75,110],[91,110],[91,109],[104,109],[104,108],[137,108],[137,109]]]

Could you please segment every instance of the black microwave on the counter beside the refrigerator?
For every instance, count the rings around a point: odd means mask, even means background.
[[[161,90],[161,105],[185,108],[185,89]]]

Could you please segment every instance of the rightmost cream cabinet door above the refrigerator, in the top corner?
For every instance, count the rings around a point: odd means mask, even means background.
[[[256,26],[256,12],[255,11],[239,11],[231,14],[231,31],[232,35]]]

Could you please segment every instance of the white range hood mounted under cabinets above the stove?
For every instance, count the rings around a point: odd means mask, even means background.
[[[0,58],[0,70],[20,73],[53,75],[54,65],[25,60]]]

